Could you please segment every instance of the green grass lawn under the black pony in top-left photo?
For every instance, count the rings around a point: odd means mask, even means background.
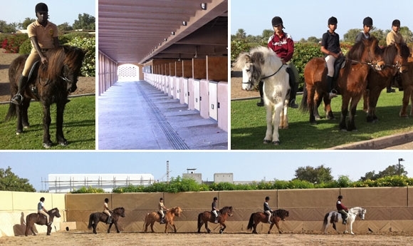
[[[16,119],[4,122],[9,104],[0,105],[0,149],[44,150],[41,104],[33,101],[28,108],[30,128],[16,135]],[[56,105],[51,106],[51,150],[95,150],[95,96],[70,98],[63,115],[63,133],[67,146],[56,142]]]

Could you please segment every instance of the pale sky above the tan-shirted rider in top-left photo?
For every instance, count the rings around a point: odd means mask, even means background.
[[[21,23],[24,19],[36,19],[34,7],[39,2],[48,5],[49,21],[56,25],[68,22],[73,25],[78,19],[79,14],[89,14],[96,17],[95,0],[11,0],[7,4],[1,4],[0,21],[6,21],[7,24],[13,22]]]

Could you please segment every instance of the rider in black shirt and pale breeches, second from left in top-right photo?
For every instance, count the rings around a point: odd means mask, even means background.
[[[340,36],[335,33],[337,29],[337,18],[331,16],[328,19],[328,30],[323,34],[321,40],[321,52],[325,54],[325,63],[327,63],[327,85],[328,97],[335,98],[337,93],[333,90],[334,64],[335,60],[343,55],[340,48]]]

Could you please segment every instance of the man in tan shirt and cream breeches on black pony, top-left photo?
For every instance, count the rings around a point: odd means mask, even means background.
[[[28,55],[23,71],[19,78],[19,91],[11,98],[11,103],[20,105],[23,101],[23,91],[28,83],[28,74],[33,64],[40,59],[41,63],[46,64],[47,58],[43,52],[50,48],[60,46],[58,40],[58,28],[55,24],[48,21],[48,6],[43,3],[36,4],[35,7],[37,20],[27,26],[28,38],[31,41],[31,52]]]

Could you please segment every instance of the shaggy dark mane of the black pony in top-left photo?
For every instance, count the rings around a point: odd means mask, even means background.
[[[49,50],[46,56],[48,63],[44,75],[49,80],[53,80],[61,75],[62,68],[65,65],[73,71],[80,69],[85,52],[75,46],[60,46]]]

